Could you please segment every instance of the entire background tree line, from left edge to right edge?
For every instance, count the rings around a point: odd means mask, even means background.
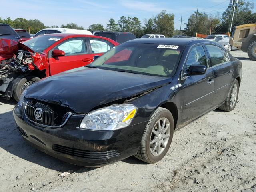
[[[256,23],[256,13],[252,13],[253,9],[254,3],[240,0],[236,7],[232,26]],[[104,28],[102,24],[96,23],[90,25],[87,30],[132,32],[136,37],[141,37],[144,34],[163,34],[166,37],[172,37],[178,34],[195,36],[196,32],[201,34],[210,34],[210,32],[211,34],[223,34],[229,30],[231,11],[232,5],[226,8],[222,16],[220,16],[218,12],[217,14],[209,14],[207,12],[195,11],[190,14],[188,21],[185,23],[186,27],[182,31],[174,30],[174,14],[167,13],[166,10],[162,10],[159,14],[156,14],[156,16],[150,19],[144,19],[143,22],[137,17],[122,16],[118,21],[110,18],[106,24],[106,28]],[[1,22],[9,24],[12,28],[22,28],[27,31],[30,28],[30,34],[35,34],[44,28],[58,28],[56,25],[50,27],[45,26],[37,19],[26,20],[24,18],[16,18],[12,20],[10,17],[6,19],[0,17],[0,23]],[[62,24],[60,28],[84,29],[82,26],[78,26],[75,23]]]

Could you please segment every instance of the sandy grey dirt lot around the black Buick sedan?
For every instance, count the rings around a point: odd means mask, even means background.
[[[16,103],[0,99],[0,191],[256,192],[256,62],[231,53],[243,62],[235,110],[215,110],[176,131],[167,156],[152,165],[130,157],[83,168],[52,158],[22,140]]]

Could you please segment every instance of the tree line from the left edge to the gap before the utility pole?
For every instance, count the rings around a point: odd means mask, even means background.
[[[45,26],[40,20],[26,20],[24,18],[16,18],[12,20],[10,17],[2,19],[0,17],[0,23],[9,24],[12,28],[21,28],[25,30],[30,29],[30,34],[35,34],[39,30],[44,28],[58,28],[57,25]],[[122,16],[116,22],[113,18],[108,20],[106,29],[102,24],[92,24],[87,30],[109,30],[109,31],[122,31],[132,32],[136,37],[141,37],[144,34],[158,33],[163,34],[167,37],[171,37],[174,30],[174,14],[167,13],[166,10],[162,10],[155,17],[144,20],[144,26],[137,17],[125,17]],[[60,28],[71,28],[71,29],[84,29],[82,26],[78,26],[75,23],[62,24]]]

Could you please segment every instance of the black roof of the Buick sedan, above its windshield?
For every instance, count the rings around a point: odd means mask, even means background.
[[[150,43],[150,44],[167,44],[167,45],[187,45],[190,42],[192,44],[209,42],[208,40],[198,40],[192,38],[139,38],[134,40],[129,40],[125,43]]]

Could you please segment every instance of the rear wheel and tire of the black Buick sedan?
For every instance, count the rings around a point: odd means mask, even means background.
[[[236,107],[237,99],[239,94],[239,83],[235,79],[232,86],[228,92],[225,103],[219,107],[223,111],[232,111]]]

